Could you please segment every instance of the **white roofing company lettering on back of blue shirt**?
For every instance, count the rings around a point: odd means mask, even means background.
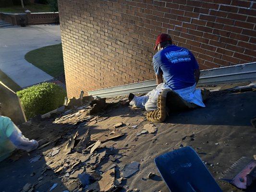
[[[183,48],[178,51],[167,52],[167,53],[165,53],[165,56],[171,63],[177,63],[177,62],[191,60],[191,57],[188,54],[188,50],[183,49]]]

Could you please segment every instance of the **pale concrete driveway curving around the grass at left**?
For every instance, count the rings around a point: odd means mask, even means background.
[[[0,29],[0,70],[16,84],[27,87],[53,79],[27,62],[31,50],[61,43],[60,25],[31,25]]]

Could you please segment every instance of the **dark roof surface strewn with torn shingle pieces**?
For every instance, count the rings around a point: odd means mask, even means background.
[[[218,86],[209,88],[219,90]],[[125,97],[110,98],[107,102],[123,98]],[[49,190],[54,183],[58,185],[53,192],[73,191],[81,188],[79,179],[75,176],[71,178],[73,172],[78,173],[83,169],[89,174],[94,171],[104,173],[115,164],[115,179],[118,179],[122,176],[124,166],[136,161],[140,164],[139,171],[122,181],[124,188],[139,189],[141,192],[168,192],[154,164],[154,158],[181,146],[192,146],[206,162],[207,168],[224,192],[240,192],[219,180],[219,177],[240,157],[253,158],[256,155],[256,129],[250,123],[256,116],[256,92],[252,88],[213,91],[206,106],[170,114],[164,123],[154,123],[157,127],[156,133],[139,136],[136,136],[137,133],[149,122],[146,121],[143,109],[131,106],[109,108],[99,116],[88,116],[89,107],[84,106],[66,114],[62,113],[57,118],[26,123],[20,127],[26,137],[45,139],[51,143],[29,155],[18,151],[1,162],[0,191],[18,191],[26,183],[35,185],[34,188],[39,192]],[[120,122],[123,125],[114,128]],[[135,125],[137,127],[132,127]],[[73,152],[67,155],[65,147],[69,138],[76,132],[82,137],[88,128],[91,130],[91,143],[104,141],[120,133],[124,135],[102,142],[93,156],[88,157],[89,152],[86,151],[83,154]],[[54,156],[53,151],[57,153]],[[106,156],[99,158],[99,154],[104,151]],[[37,155],[41,156],[40,159],[31,163],[29,159]],[[112,162],[112,157],[117,158],[116,161]],[[79,163],[74,165],[76,162]],[[70,171],[69,177],[65,177],[67,170]],[[145,180],[150,172],[156,176]],[[30,176],[33,173],[35,174]],[[125,191],[124,188],[121,191]],[[247,191],[251,190],[253,189]]]

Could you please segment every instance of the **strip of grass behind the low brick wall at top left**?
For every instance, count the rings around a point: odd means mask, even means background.
[[[13,5],[11,7],[0,7],[0,12],[24,13],[25,10],[29,10],[31,12],[51,12],[49,5],[37,3],[32,5],[24,5],[24,8],[22,8],[21,5]]]

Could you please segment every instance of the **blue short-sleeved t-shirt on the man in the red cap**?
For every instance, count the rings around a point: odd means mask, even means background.
[[[166,85],[172,90],[183,89],[195,84],[195,69],[199,69],[194,55],[186,48],[175,45],[158,51],[153,56],[154,70],[163,73]]]

